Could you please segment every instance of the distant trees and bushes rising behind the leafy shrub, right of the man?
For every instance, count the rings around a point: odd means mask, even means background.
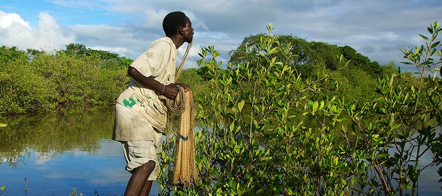
[[[251,62],[258,54],[264,34],[249,35],[236,50],[229,54],[232,68],[237,64]],[[265,37],[265,36],[264,36]],[[350,46],[330,45],[323,42],[307,42],[292,35],[278,35],[272,47],[280,47],[285,52],[273,51],[272,58],[295,69],[302,78],[315,78],[317,73],[332,75],[328,80],[321,81],[323,94],[310,94],[310,99],[323,99],[334,94],[345,97],[349,102],[363,102],[373,98],[374,85],[384,69],[378,62],[371,62],[367,57],[356,52]],[[340,58],[336,55],[341,54]],[[342,62],[347,62],[343,65]],[[259,63],[249,65],[251,68]],[[200,67],[200,69],[207,69]],[[207,70],[201,71],[207,74]],[[333,76],[334,75],[334,76]],[[337,85],[337,83],[340,83]],[[341,86],[341,88],[338,88]]]

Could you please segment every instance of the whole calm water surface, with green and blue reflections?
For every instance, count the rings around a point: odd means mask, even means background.
[[[66,109],[54,115],[0,118],[0,185],[6,195],[123,194],[130,173],[111,140],[112,108]],[[421,164],[431,161],[426,157]],[[419,178],[419,195],[442,195],[436,167]],[[26,179],[26,184],[25,184]],[[28,189],[26,192],[25,189]],[[151,195],[159,184],[153,183]]]

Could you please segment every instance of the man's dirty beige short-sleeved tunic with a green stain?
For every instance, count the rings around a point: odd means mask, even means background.
[[[173,83],[178,51],[169,37],[160,38],[147,48],[130,66],[143,76],[152,76],[158,82],[168,85]],[[126,90],[117,99],[130,110],[117,111],[112,139],[117,141],[157,140],[167,121],[167,108],[161,100],[164,96],[130,79]],[[142,123],[144,121],[144,123]],[[149,126],[150,124],[150,126]],[[159,134],[159,135],[158,135]],[[157,141],[159,142],[159,141]],[[154,141],[156,146],[158,143]]]

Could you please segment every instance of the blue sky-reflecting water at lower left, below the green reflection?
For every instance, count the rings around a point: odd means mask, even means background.
[[[121,147],[108,139],[99,139],[99,144],[94,154],[26,149],[14,165],[2,163],[0,183],[9,190],[7,195],[25,195],[25,186],[28,195],[68,195],[74,188],[76,194],[123,194],[130,174],[124,171]]]

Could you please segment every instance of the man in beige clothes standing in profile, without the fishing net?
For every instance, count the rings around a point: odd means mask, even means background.
[[[165,130],[165,99],[175,99],[178,87],[173,84],[177,49],[191,43],[193,28],[183,12],[172,12],[163,20],[166,37],[153,41],[147,50],[130,64],[130,82],[117,99],[113,139],[120,141],[126,158],[126,170],[132,176],[124,195],[149,195],[159,170],[158,153],[162,152],[161,133]]]

